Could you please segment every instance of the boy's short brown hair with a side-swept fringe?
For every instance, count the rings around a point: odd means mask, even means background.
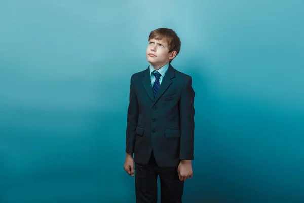
[[[180,51],[181,42],[175,31],[168,28],[158,28],[151,31],[149,41],[151,39],[166,40],[168,43],[169,52],[176,51],[176,56]],[[173,60],[173,59],[172,59]],[[171,61],[170,60],[170,63]]]

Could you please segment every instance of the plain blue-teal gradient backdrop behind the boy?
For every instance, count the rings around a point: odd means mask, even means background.
[[[196,92],[184,202],[304,201],[303,1],[103,2],[0,1],[0,202],[135,202],[129,84],[159,27]]]

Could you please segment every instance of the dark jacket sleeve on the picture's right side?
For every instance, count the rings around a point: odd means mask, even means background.
[[[180,112],[180,160],[194,160],[194,97],[192,78],[188,77],[181,94]]]

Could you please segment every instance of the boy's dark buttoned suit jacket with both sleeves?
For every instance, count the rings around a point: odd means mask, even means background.
[[[153,150],[160,167],[194,159],[192,78],[171,64],[154,98],[149,68],[131,77],[126,152],[147,164]]]

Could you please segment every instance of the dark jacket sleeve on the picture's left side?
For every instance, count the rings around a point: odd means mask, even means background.
[[[138,121],[138,102],[135,94],[134,75],[130,81],[130,95],[129,95],[129,107],[127,113],[127,130],[126,130],[126,152],[133,153],[135,138],[136,138],[136,126]]]

